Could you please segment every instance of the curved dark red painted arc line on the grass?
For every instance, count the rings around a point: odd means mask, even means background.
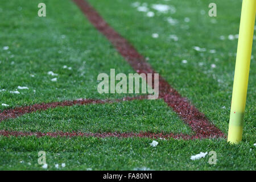
[[[62,101],[62,102],[52,102],[52,103],[42,103],[42,104],[34,104],[31,106],[22,106],[16,107],[15,109],[4,110],[0,113],[0,122],[9,119],[16,118],[20,115],[33,113],[35,111],[47,110],[49,108],[55,107],[64,107],[64,106],[73,106],[73,105],[87,105],[87,104],[106,104],[120,101],[132,101],[132,100],[144,100],[147,96],[138,96],[138,97],[125,97],[117,100],[93,100],[93,99],[79,99],[73,101]]]

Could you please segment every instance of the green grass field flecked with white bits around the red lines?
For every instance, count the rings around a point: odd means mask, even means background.
[[[46,3],[46,17],[38,16],[40,2]],[[134,2],[89,0],[156,72],[227,134],[237,50],[237,39],[230,35],[238,34],[241,1],[148,0],[143,6],[154,12],[152,17],[138,11]],[[215,18],[208,16],[210,2],[217,4]],[[176,12],[161,13],[151,8],[153,4],[171,5]],[[97,92],[99,73],[109,74],[110,68],[125,74],[135,71],[72,1],[1,1],[0,19],[1,111],[42,102],[134,96]],[[240,144],[230,145],[225,138],[0,136],[0,170],[42,170],[39,151],[46,151],[49,170],[255,170],[255,43]],[[195,46],[206,50],[196,51]],[[0,130],[193,134],[163,100],[56,107],[2,121]],[[150,146],[152,140],[158,146]],[[208,163],[209,155],[190,159],[209,151],[216,151],[217,164]],[[61,163],[65,167],[55,168]]]

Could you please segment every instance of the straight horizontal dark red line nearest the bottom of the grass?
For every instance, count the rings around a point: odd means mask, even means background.
[[[148,132],[141,132],[141,133],[81,133],[81,132],[31,132],[31,131],[7,131],[7,130],[0,130],[0,135],[3,137],[28,137],[28,136],[36,136],[40,137],[97,137],[97,138],[106,138],[106,137],[117,137],[117,138],[162,138],[162,139],[199,139],[200,136],[197,135],[184,135],[184,134],[163,134],[163,133],[148,133]]]

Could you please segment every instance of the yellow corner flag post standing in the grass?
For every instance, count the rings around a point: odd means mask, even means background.
[[[228,142],[230,143],[238,143],[242,140],[255,14],[256,0],[243,0],[229,120]]]

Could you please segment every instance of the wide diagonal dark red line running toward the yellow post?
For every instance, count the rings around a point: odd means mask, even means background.
[[[144,57],[140,55],[125,38],[110,27],[88,2],[84,0],[73,1],[79,6],[93,26],[96,27],[101,34],[106,36],[137,73],[155,73]],[[152,80],[154,80],[154,78]],[[154,85],[154,83],[152,85]],[[195,106],[189,104],[187,98],[181,97],[161,76],[159,76],[159,98],[163,98],[168,106],[172,107],[183,121],[196,132],[197,136],[202,138],[225,137],[224,133],[212,125],[205,115],[197,110]]]

